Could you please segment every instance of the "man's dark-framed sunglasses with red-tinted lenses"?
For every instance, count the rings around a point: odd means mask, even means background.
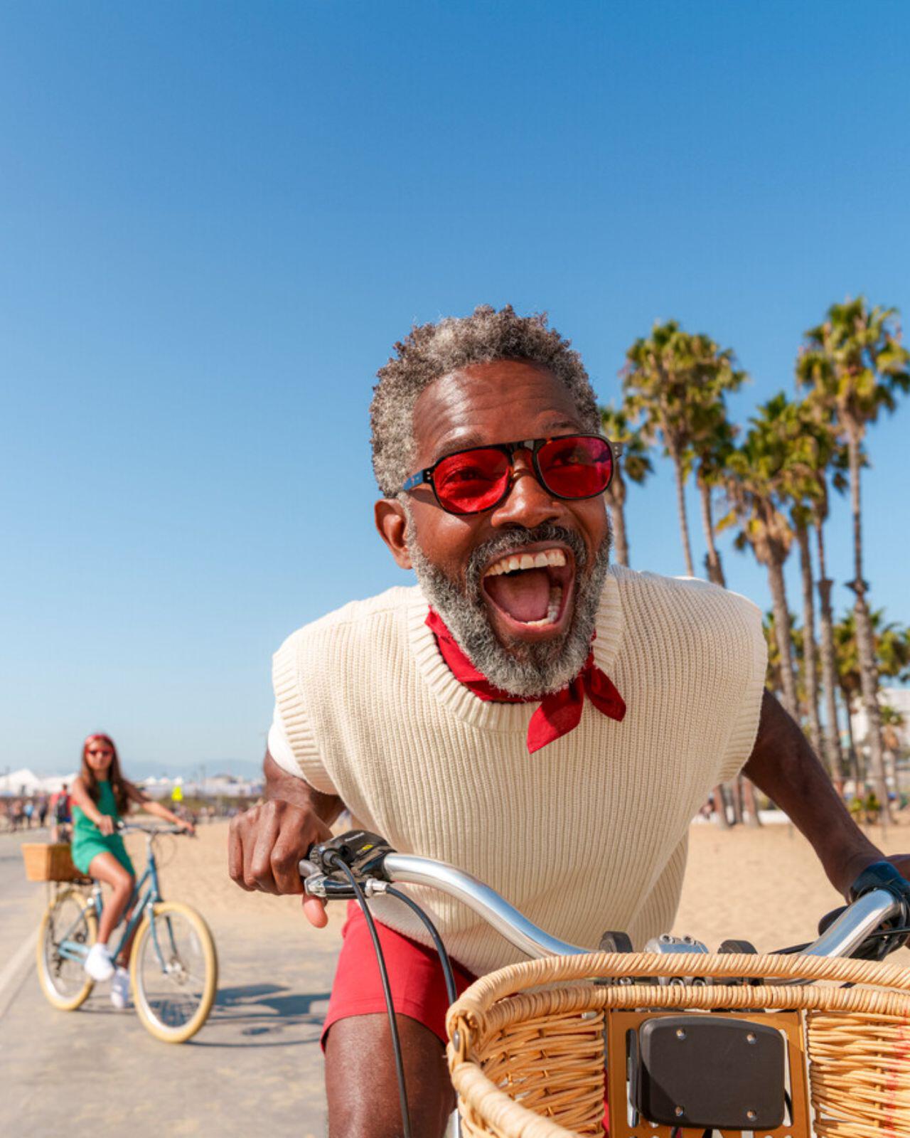
[[[428,483],[447,513],[493,510],[512,488],[516,451],[530,451],[537,480],[553,497],[574,501],[604,493],[622,447],[602,435],[562,435],[472,446],[419,470],[402,489],[413,490]]]

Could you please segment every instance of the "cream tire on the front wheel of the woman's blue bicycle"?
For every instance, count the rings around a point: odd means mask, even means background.
[[[143,955],[149,946],[149,938],[152,932],[152,922],[157,925],[160,921],[162,927],[167,929],[167,932],[169,933],[171,930],[164,920],[169,915],[180,917],[190,926],[197,938],[205,966],[201,993],[197,1001],[196,1009],[185,1020],[185,1022],[177,1025],[172,1025],[162,1017],[162,1013],[157,1006],[158,1001],[146,988],[142,968]],[[160,939],[164,941],[164,935]],[[168,939],[172,939],[173,942],[172,937],[168,937]],[[182,970],[183,965],[179,959],[179,954],[174,953],[174,955],[177,956],[176,963]],[[168,960],[168,965],[173,963],[173,960]],[[171,973],[168,972],[166,975],[169,976]],[[139,1016],[142,1026],[150,1034],[165,1044],[185,1044],[188,1039],[191,1039],[208,1019],[208,1013],[212,1011],[212,1005],[215,1003],[215,992],[218,987],[218,958],[215,951],[215,941],[212,939],[212,933],[209,932],[208,925],[205,923],[202,916],[197,913],[196,909],[191,908],[189,905],[183,905],[181,901],[158,901],[152,907],[151,915],[147,912],[142,918],[142,924],[139,926],[139,932],[136,933],[135,941],[133,942],[133,950],[130,956],[130,980],[133,989],[133,1003],[135,1005],[136,1015]],[[179,988],[180,981],[177,979],[175,981],[175,989]]]

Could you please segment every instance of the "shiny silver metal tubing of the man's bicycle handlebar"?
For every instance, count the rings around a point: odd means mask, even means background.
[[[325,897],[321,888],[325,880],[315,874],[312,861],[299,863],[304,888],[316,897]],[[510,905],[496,890],[485,885],[470,873],[456,869],[445,861],[417,857],[415,853],[387,853],[383,860],[386,876],[395,883],[432,885],[462,901],[483,917],[505,939],[531,958],[543,956],[578,956],[592,951],[551,937]],[[367,894],[381,893],[386,883],[371,877],[364,882]],[[854,901],[818,940],[802,951],[806,956],[849,956],[884,921],[899,916],[901,904],[886,889],[874,889]]]

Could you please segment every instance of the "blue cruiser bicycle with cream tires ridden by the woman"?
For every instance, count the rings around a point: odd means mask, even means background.
[[[181,901],[165,901],[158,884],[155,841],[185,833],[180,826],[121,823],[122,833],[146,835],[146,869],[133,887],[130,920],[123,925],[118,956],[138,927],[130,953],[133,1004],[142,1025],[156,1039],[183,1044],[202,1026],[217,989],[215,943],[202,917]],[[55,884],[38,934],[38,979],[47,999],[74,1012],[89,998],[94,981],[83,964],[98,935],[104,901],[101,885],[78,877]]]

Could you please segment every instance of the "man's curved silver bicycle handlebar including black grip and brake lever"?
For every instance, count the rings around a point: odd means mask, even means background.
[[[359,844],[358,844],[359,843]],[[389,883],[432,885],[462,901],[483,917],[505,939],[532,958],[577,956],[588,948],[551,937],[510,905],[496,890],[478,877],[445,861],[398,853],[383,839],[363,831],[351,831],[331,842],[314,847],[298,868],[304,888],[314,897],[353,896],[346,880],[332,873],[332,858],[344,851],[369,896],[382,893]],[[850,956],[884,922],[907,917],[907,902],[893,889],[871,889],[853,901],[841,916],[802,951],[808,956]]]

